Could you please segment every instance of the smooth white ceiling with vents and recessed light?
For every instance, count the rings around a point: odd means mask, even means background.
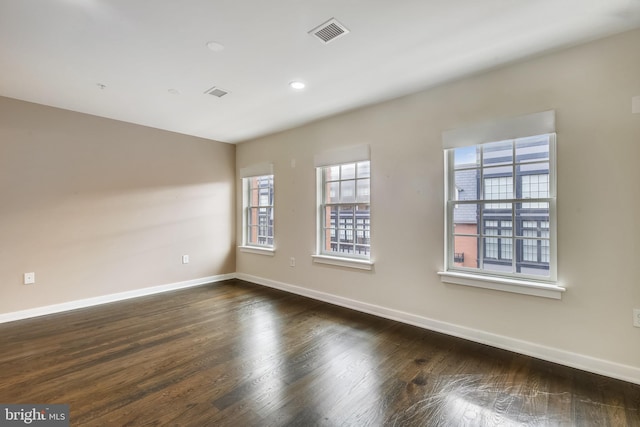
[[[236,143],[637,27],[640,0],[0,0],[0,95]]]

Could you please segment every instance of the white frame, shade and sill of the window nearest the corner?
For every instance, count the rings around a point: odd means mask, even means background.
[[[275,255],[275,218],[272,226],[273,240],[272,243],[260,244],[249,241],[249,227],[251,218],[251,209],[254,208],[269,208],[271,215],[275,215],[275,176],[273,174],[273,165],[271,164],[259,164],[253,165],[247,168],[240,169],[240,177],[242,180],[242,245],[239,246],[241,252],[254,253],[258,255]],[[267,205],[253,205],[251,203],[251,181],[254,178],[271,178],[270,192],[272,193],[271,203]],[[258,196],[259,197],[259,196]]]

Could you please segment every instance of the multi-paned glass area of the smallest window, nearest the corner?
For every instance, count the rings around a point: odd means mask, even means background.
[[[273,175],[243,178],[244,245],[273,248]]]

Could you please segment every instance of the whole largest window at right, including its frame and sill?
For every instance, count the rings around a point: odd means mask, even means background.
[[[556,284],[555,114],[549,113],[537,118],[551,117],[553,129],[538,126],[551,132],[493,142],[474,141],[470,131],[484,139],[501,136],[500,126],[445,135],[451,140],[444,143],[443,281],[551,298],[564,291]],[[518,126],[507,128],[513,133]]]

